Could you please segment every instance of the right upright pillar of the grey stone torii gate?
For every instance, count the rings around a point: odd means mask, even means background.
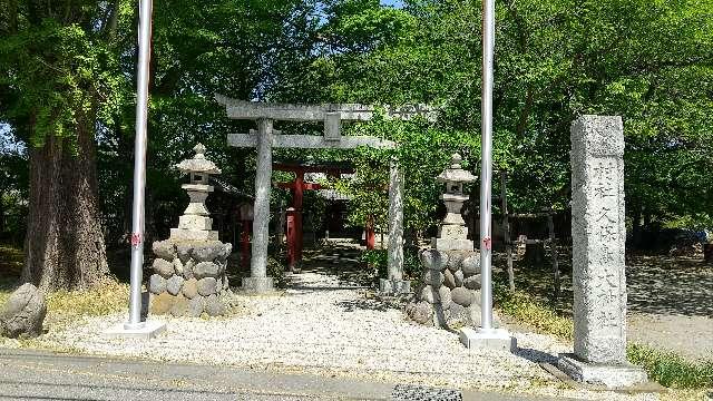
[[[395,162],[389,174],[388,277],[379,281],[383,294],[408,294],[411,282],[403,280],[403,173]]]

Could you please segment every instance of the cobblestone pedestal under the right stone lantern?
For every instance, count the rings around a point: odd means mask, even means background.
[[[407,314],[439,327],[480,325],[480,255],[473,251],[424,250],[422,284]]]

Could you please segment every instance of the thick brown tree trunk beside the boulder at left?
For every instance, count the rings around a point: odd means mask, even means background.
[[[78,123],[76,129],[76,144],[51,135],[41,148],[29,151],[22,280],[46,291],[87,288],[109,274],[99,221],[92,129],[86,121]]]

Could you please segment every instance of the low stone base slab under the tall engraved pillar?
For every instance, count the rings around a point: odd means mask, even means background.
[[[628,388],[648,380],[646,372],[633,364],[587,363],[575,354],[560,354],[557,368],[575,381],[609,389]]]

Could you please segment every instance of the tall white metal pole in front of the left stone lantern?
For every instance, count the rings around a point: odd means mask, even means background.
[[[141,322],[141,274],[144,268],[144,196],[146,187],[146,119],[148,115],[148,66],[150,62],[153,0],[140,0],[138,23],[138,79],[136,84],[136,141],[134,146],[134,205],[131,207],[131,285],[129,321],[125,329]]]

